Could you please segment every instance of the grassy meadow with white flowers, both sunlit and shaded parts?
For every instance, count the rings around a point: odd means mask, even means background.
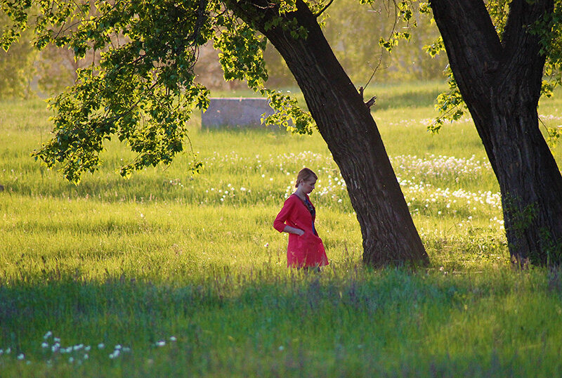
[[[440,83],[375,86],[372,112],[430,265],[375,270],[318,133],[200,128],[124,179],[107,144],[79,185],[30,157],[41,100],[0,102],[0,377],[551,377],[562,272],[514,271],[497,181],[469,117],[426,131]],[[242,96],[244,93],[241,93]],[[562,93],[559,93],[562,94]],[[230,93],[232,95],[232,93]],[[562,99],[542,122],[562,125]],[[562,167],[562,148],[553,148]],[[273,219],[296,172],[330,265],[288,269]]]

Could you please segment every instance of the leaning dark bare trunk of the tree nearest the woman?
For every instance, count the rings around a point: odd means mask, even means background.
[[[266,12],[261,13],[257,27],[294,74],[346,181],[361,227],[363,261],[370,266],[426,263],[428,256],[370,110],[332,53],[315,15],[303,1],[296,4],[298,10],[284,18],[294,18],[305,27],[306,39],[294,39],[283,27],[265,30]],[[239,15],[252,21],[247,11]]]

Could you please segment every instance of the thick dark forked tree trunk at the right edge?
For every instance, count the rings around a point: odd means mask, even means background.
[[[562,263],[562,176],[537,115],[545,58],[526,29],[552,10],[552,0],[512,1],[502,41],[483,1],[430,4],[499,181],[512,261]]]

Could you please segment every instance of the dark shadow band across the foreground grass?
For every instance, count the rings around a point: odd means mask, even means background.
[[[486,324],[505,315],[498,305],[504,299],[541,296],[543,290],[551,295],[542,278],[353,266],[329,267],[320,275],[217,268],[197,282],[124,276],[84,282],[51,275],[41,283],[0,286],[0,348],[67,368],[77,344],[105,344],[107,350],[91,350],[89,370],[81,367],[86,376],[115,374],[110,353],[117,345],[131,349],[119,363],[130,375],[513,373],[518,358],[509,354],[510,343],[519,341],[478,346],[478,332],[486,340],[497,337]],[[480,313],[492,301],[492,312]],[[476,320],[482,329],[467,338]],[[60,337],[60,348],[70,348],[67,355],[52,351],[52,339],[43,341],[47,331]],[[489,358],[492,350],[496,360]]]

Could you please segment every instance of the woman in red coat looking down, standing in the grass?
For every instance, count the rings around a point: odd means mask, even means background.
[[[314,227],[316,210],[308,198],[317,179],[311,169],[301,169],[296,176],[295,193],[285,200],[273,222],[275,230],[289,233],[287,266],[308,269],[328,265],[322,239]]]

